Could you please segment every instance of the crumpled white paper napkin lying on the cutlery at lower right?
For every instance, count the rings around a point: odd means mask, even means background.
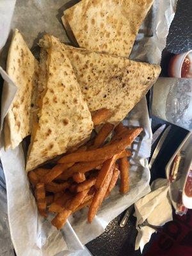
[[[137,218],[136,228],[138,236],[136,237],[135,250],[140,248],[141,252],[145,244],[156,230],[150,227],[138,228],[138,225],[145,220],[156,226],[163,226],[164,223],[172,221],[172,204],[168,198],[168,189],[170,182],[167,179],[157,179],[152,182],[151,192],[138,200],[134,204]]]

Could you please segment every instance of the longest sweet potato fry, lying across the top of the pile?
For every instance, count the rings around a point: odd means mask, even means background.
[[[84,161],[95,161],[95,159],[109,159],[113,155],[122,152],[128,145],[131,145],[134,138],[140,134],[142,128],[134,128],[127,130],[118,141],[106,147],[97,148],[95,150],[87,150],[86,152],[72,153],[61,157],[58,163],[74,163]]]

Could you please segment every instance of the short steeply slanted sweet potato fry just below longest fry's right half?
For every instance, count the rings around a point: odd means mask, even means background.
[[[115,169],[115,161],[118,159],[119,155],[120,154],[117,154],[111,157],[102,164],[102,168],[100,169],[99,175],[97,176],[97,180],[95,182],[95,188],[99,189],[101,186],[103,186],[108,173],[111,172],[111,169],[112,172]]]

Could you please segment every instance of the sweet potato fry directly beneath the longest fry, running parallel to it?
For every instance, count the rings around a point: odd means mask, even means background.
[[[61,175],[58,176],[58,179],[67,180],[68,178],[72,177],[72,175],[76,172],[89,172],[90,170],[93,170],[95,167],[97,167],[99,164],[102,164],[103,162],[104,160],[102,159],[99,161],[76,163],[74,164],[74,166],[68,168],[66,172],[61,173]]]

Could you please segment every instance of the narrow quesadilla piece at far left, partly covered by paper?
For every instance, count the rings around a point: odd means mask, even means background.
[[[15,29],[8,52],[6,72],[17,86],[17,93],[4,120],[4,148],[15,148],[31,134],[33,106],[38,81],[38,61]]]

